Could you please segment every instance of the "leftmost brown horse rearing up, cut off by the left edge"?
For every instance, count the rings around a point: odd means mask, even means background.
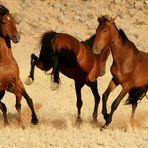
[[[38,119],[34,111],[32,99],[29,97],[19,78],[19,68],[12,55],[11,40],[14,43],[19,42],[20,35],[16,29],[14,18],[9,10],[0,5],[0,100],[3,98],[5,91],[10,91],[16,96],[16,109],[21,115],[21,98],[25,97],[31,111],[32,123],[37,124]],[[8,124],[7,109],[4,103],[0,101],[0,109],[3,112],[4,124]]]

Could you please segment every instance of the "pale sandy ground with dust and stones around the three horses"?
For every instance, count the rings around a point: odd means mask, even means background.
[[[110,5],[108,9],[104,3],[109,1],[46,1],[36,0],[4,0],[1,1],[10,11],[14,13],[18,21],[18,29],[21,32],[21,41],[18,44],[12,43],[14,57],[20,67],[20,77],[25,82],[30,70],[30,55],[32,52],[38,53],[40,35],[47,30],[53,29],[58,32],[67,32],[76,36],[80,40],[88,38],[95,32],[97,24],[97,16],[100,14],[108,14],[115,16],[120,8],[121,16],[116,20],[118,26],[125,29],[127,36],[135,42],[141,50],[148,51],[147,36],[148,22],[147,5],[145,9],[140,4],[136,8],[132,8],[131,17],[128,14],[122,14],[126,10],[123,5],[117,1],[115,5]],[[136,1],[137,2],[137,1]],[[138,1],[139,2],[139,1]],[[73,5],[72,5],[73,4]],[[82,5],[83,4],[83,5]],[[47,7],[48,5],[48,7]],[[52,7],[54,5],[54,7]],[[66,6],[67,5],[67,6]],[[70,7],[69,7],[70,6]],[[104,6],[104,9],[102,8]],[[118,7],[117,7],[118,6]],[[52,7],[52,8],[51,8]],[[69,7],[70,9],[65,8]],[[90,11],[90,8],[92,11]],[[138,7],[138,8],[137,8]],[[139,8],[140,7],[140,8]],[[83,20],[83,11],[88,11],[86,20],[91,17],[92,24]],[[63,11],[65,10],[65,11]],[[79,13],[77,12],[79,10]],[[104,11],[103,11],[104,10]],[[62,17],[58,21],[59,12],[62,11]],[[72,13],[74,12],[74,14]],[[76,14],[77,12],[77,14]],[[82,13],[82,15],[81,15]],[[74,18],[73,16],[76,16]],[[140,18],[139,21],[137,18]],[[41,17],[44,16],[44,17]],[[80,18],[79,18],[80,17]],[[90,18],[90,19],[91,19]],[[79,21],[77,19],[80,19]],[[128,20],[128,21],[127,21]],[[63,22],[62,22],[63,21]],[[66,22],[66,23],[65,23]],[[100,96],[105,91],[111,74],[109,71],[112,63],[110,56],[107,61],[107,73],[98,78],[98,88]],[[39,118],[39,124],[33,126],[30,124],[30,110],[22,99],[22,121],[23,128],[17,122],[17,112],[15,110],[15,97],[13,94],[7,93],[3,99],[8,108],[8,119],[10,126],[3,126],[3,117],[0,114],[0,148],[147,148],[148,145],[148,100],[144,98],[138,106],[135,118],[135,129],[130,126],[131,106],[125,106],[124,101],[121,102],[119,108],[114,114],[113,121],[109,128],[100,130],[104,124],[101,114],[102,102],[99,105],[98,121],[96,126],[92,122],[92,112],[94,100],[88,87],[82,89],[83,108],[82,123],[76,122],[76,95],[73,80],[60,74],[61,85],[58,90],[50,90],[50,76],[45,75],[39,69],[35,69],[35,81],[32,85],[25,85],[25,88],[33,99],[35,110]],[[121,87],[117,88],[110,96],[108,108],[113,99],[118,95]]]

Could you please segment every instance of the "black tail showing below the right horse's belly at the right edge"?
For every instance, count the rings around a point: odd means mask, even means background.
[[[145,96],[148,98],[148,96],[146,95],[147,91],[148,91],[148,85],[141,88],[133,88],[129,92],[129,97],[126,100],[125,104],[129,105],[129,104],[137,103],[137,101],[142,100],[143,97]]]

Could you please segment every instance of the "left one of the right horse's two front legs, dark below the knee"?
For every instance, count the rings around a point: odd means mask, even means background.
[[[106,120],[109,116],[109,114],[107,113],[107,100],[109,97],[109,94],[118,86],[118,83],[114,80],[114,78],[112,78],[112,80],[110,81],[106,91],[103,93],[102,96],[102,114],[104,116],[104,119]]]

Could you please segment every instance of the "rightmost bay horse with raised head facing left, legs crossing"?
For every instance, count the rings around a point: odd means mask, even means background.
[[[138,50],[135,44],[127,38],[124,31],[117,28],[114,20],[115,18],[100,23],[96,29],[96,38],[93,44],[94,53],[100,53],[101,50],[110,46],[113,56],[111,66],[113,77],[102,98],[102,114],[106,121],[104,127],[111,123],[114,111],[127,93],[130,97],[127,103],[132,104],[131,125],[133,126],[137,101],[141,99],[141,96],[146,95],[148,90],[148,53]],[[106,108],[108,96],[119,84],[122,86],[122,90],[113,101],[108,114]]]

